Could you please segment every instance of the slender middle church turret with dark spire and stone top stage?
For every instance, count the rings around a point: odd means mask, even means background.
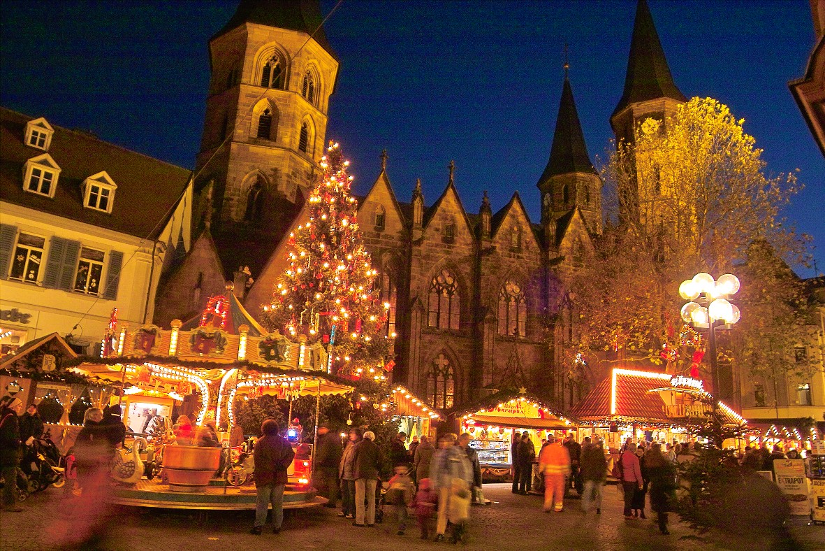
[[[567,72],[565,62],[550,158],[536,184],[541,192],[541,226],[548,238],[555,235],[556,221],[576,208],[581,211],[587,230],[591,234],[601,233],[601,178],[587,154]]]

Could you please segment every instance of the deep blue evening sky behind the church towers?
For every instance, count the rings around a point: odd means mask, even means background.
[[[326,15],[336,5],[323,0]],[[2,105],[191,168],[209,80],[206,42],[237,2],[17,2],[0,9]],[[807,0],[650,2],[676,84],[746,120],[768,173],[799,169],[807,188],[787,211],[814,236],[825,271],[825,161],[787,82],[813,48]],[[493,210],[518,191],[539,220],[535,188],[570,80],[594,162],[611,136],[635,2],[379,2],[345,0],[329,18],[341,60],[328,138],[365,192],[389,153],[389,178],[427,204],[447,164],[468,211],[484,189]],[[799,269],[804,277],[812,269]]]

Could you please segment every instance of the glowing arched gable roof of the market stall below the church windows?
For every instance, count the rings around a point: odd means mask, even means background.
[[[536,428],[569,430],[577,422],[563,416],[558,408],[550,406],[539,398],[528,396],[525,388],[521,392],[497,392],[456,412],[463,422],[492,424],[501,426],[535,426]],[[504,415],[502,415],[504,414]]]

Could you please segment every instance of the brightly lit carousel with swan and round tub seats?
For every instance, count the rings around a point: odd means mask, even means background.
[[[289,401],[316,399],[315,418],[325,396],[351,392],[346,382],[327,374],[323,344],[293,341],[267,332],[243,308],[228,283],[226,293],[210,298],[201,316],[157,325],[117,325],[113,316],[101,359],[81,363],[75,373],[120,386],[119,403],[126,425],[126,449],[115,466],[120,482],[112,501],[123,505],[186,509],[254,509],[252,484],[255,438],[230,441],[238,433],[235,404],[264,395]],[[172,423],[191,419],[193,430],[214,422],[221,447],[194,445],[175,437]],[[209,423],[212,424],[211,422]],[[318,427],[314,427],[317,439]],[[295,448],[306,439],[290,425]],[[239,435],[243,435],[240,432]],[[241,444],[243,442],[243,444]],[[304,445],[289,469],[284,507],[322,505],[309,486],[312,446]],[[115,458],[117,459],[117,458]],[[121,476],[122,475],[122,476]]]

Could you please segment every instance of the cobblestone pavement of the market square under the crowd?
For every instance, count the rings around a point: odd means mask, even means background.
[[[21,513],[0,513],[0,549],[56,549],[50,539],[55,519],[73,515],[73,500],[64,500],[53,488],[31,496],[21,505]],[[727,534],[698,536],[688,526],[672,521],[670,536],[658,533],[653,515],[648,520],[624,520],[620,496],[615,487],[606,487],[601,515],[584,515],[581,502],[568,499],[561,513],[544,514],[540,496],[516,496],[509,485],[489,484],[484,494],[489,506],[474,506],[469,538],[464,549],[771,549],[767,539],[736,539]],[[416,526],[404,536],[396,535],[394,513],[387,508],[383,524],[356,528],[336,511],[318,507],[288,511],[281,534],[266,526],[260,536],[248,533],[252,511],[210,512],[206,519],[189,511],[162,511],[135,507],[115,507],[108,530],[95,549],[449,549],[419,539]],[[792,521],[799,549],[825,549],[825,528]],[[83,549],[92,549],[86,547]]]

